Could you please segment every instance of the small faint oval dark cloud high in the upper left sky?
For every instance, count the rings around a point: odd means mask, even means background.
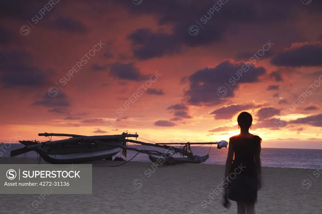
[[[48,26],[54,29],[72,32],[72,33],[83,34],[87,32],[87,27],[82,22],[72,17],[59,16]]]

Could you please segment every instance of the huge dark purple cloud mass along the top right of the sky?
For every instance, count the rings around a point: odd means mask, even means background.
[[[293,4],[291,0],[283,2],[260,0],[256,1],[256,4],[249,0],[227,1],[221,6],[212,0],[155,0],[145,2],[144,5],[140,4],[139,7],[125,1],[118,1],[118,4],[125,6],[136,17],[150,15],[157,19],[159,26],[173,26],[171,33],[165,33],[161,29],[158,32],[152,32],[151,29],[145,28],[137,29],[132,33],[129,39],[136,46],[133,49],[133,55],[139,59],[172,55],[181,52],[185,46],[196,47],[222,41],[224,35],[238,24],[279,24],[282,20],[288,21],[291,17],[296,19],[301,12],[308,10],[320,13],[316,8],[305,8],[303,5]],[[195,36],[189,33],[192,25],[195,25],[194,29],[199,28]],[[271,57],[272,54],[269,51],[264,57]],[[241,55],[243,55],[242,58],[247,58],[250,54]]]

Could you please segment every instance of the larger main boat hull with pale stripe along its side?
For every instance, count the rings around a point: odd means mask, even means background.
[[[31,141],[21,141],[25,146],[33,145]],[[90,161],[102,160],[117,155],[122,149],[109,146],[81,146],[63,145],[59,147],[35,147],[32,151],[37,152],[44,161],[50,164],[80,164]]]

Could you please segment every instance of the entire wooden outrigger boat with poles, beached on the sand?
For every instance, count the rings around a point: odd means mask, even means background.
[[[44,161],[50,164],[79,164],[103,159],[110,160],[121,150],[122,154],[126,156],[127,150],[133,150],[138,153],[149,155],[152,162],[159,162],[161,165],[175,165],[182,163],[203,163],[209,158],[209,154],[204,156],[194,155],[191,151],[190,145],[217,144],[218,149],[221,149],[222,147],[227,148],[228,146],[228,142],[224,140],[214,143],[145,143],[137,140],[126,139],[137,139],[138,134],[128,134],[124,132],[121,135],[99,136],[40,133],[38,136],[45,136],[50,140],[46,142],[19,141],[24,145],[24,147],[12,150],[10,156],[14,157],[25,154],[29,151],[35,151],[43,158]],[[52,136],[70,138],[52,141]],[[164,153],[155,150],[137,149],[128,147],[128,143],[164,148],[167,151]],[[177,145],[180,147],[170,145]],[[174,157],[174,154],[180,154],[182,157]],[[162,158],[161,161],[160,158]]]

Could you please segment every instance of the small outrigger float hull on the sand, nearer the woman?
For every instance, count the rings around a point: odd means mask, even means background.
[[[204,163],[206,160],[208,160],[209,155],[204,156],[193,156],[193,157],[154,157],[149,156],[150,160],[152,162],[157,162],[161,165],[175,165],[175,164],[184,164],[184,163],[194,163],[194,164],[200,164]]]

